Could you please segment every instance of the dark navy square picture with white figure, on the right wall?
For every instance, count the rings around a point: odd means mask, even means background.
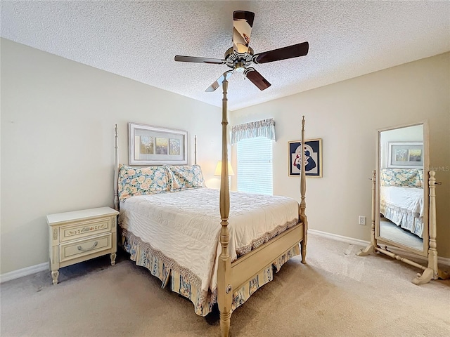
[[[304,151],[305,175],[320,178],[322,176],[321,138],[304,140],[304,146],[302,146],[300,140],[288,142],[289,176],[300,176],[302,149]]]

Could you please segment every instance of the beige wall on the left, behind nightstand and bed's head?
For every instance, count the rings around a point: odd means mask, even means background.
[[[191,162],[197,135],[218,185],[220,108],[1,39],[1,274],[48,260],[46,214],[113,206],[129,121],[187,130]]]

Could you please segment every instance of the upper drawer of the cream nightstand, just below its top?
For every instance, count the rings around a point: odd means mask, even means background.
[[[78,221],[76,225],[66,225],[59,228],[59,242],[92,237],[92,235],[105,232],[111,232],[111,218]]]

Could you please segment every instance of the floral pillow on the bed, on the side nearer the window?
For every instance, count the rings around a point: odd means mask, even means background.
[[[167,166],[167,169],[170,192],[205,187],[202,169],[198,165]]]

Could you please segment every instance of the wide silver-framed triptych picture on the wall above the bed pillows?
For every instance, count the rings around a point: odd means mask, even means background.
[[[187,131],[128,124],[130,165],[188,164]]]

